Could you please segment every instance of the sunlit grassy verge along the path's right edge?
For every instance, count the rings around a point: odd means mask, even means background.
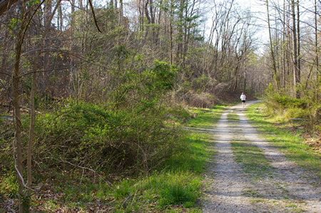
[[[320,154],[317,154],[317,152],[303,143],[300,133],[294,134],[284,128],[280,128],[280,126],[276,126],[273,118],[263,115],[262,108],[262,103],[250,105],[248,108],[247,115],[252,120],[252,124],[258,127],[259,130],[266,131],[267,134],[263,134],[264,137],[284,152],[290,160],[297,162],[298,165],[321,177]]]

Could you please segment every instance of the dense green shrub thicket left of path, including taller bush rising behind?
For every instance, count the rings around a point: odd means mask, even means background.
[[[142,73],[125,73],[108,103],[64,101],[38,116],[35,157],[44,165],[148,172],[182,147],[163,103],[174,80],[175,70],[155,61]]]

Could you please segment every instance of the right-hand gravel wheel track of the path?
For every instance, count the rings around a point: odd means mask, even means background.
[[[258,131],[248,122],[245,109],[236,110],[240,117],[240,126],[243,128],[243,137],[246,141],[263,150],[265,157],[273,167],[272,178],[257,180],[255,186],[259,194],[272,199],[274,205],[283,207],[281,212],[297,211],[321,212],[320,179],[310,175],[295,162],[287,160],[285,154],[263,139]],[[289,204],[291,203],[291,204]]]

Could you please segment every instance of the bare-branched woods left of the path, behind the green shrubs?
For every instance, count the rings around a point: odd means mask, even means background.
[[[17,89],[26,94],[20,97],[22,103],[29,102],[32,88],[36,104],[69,95],[108,102],[126,73],[141,73],[155,60],[178,68],[175,97],[186,103],[208,104],[206,97],[214,100],[222,90],[255,94],[267,87],[265,59],[255,53],[255,17],[235,1],[101,4],[18,1],[6,7],[0,24],[1,91],[6,91],[1,102],[8,105],[13,98],[16,54],[21,54]],[[206,15],[209,6],[213,14]],[[24,35],[19,38],[22,25]]]

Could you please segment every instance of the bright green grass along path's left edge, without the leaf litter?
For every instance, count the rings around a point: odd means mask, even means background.
[[[194,109],[198,117],[188,121],[186,125],[197,128],[210,128],[218,121],[223,106],[207,111]],[[170,157],[161,165],[160,171],[154,171],[148,177],[136,180],[128,179],[118,182],[112,188],[107,185],[86,185],[79,189],[68,186],[61,189],[65,193],[65,203],[80,203],[86,208],[86,202],[95,202],[106,197],[112,202],[114,210],[119,212],[136,211],[169,211],[200,212],[196,205],[200,197],[202,173],[213,155],[210,134],[190,132],[185,137],[187,147],[184,152]]]

